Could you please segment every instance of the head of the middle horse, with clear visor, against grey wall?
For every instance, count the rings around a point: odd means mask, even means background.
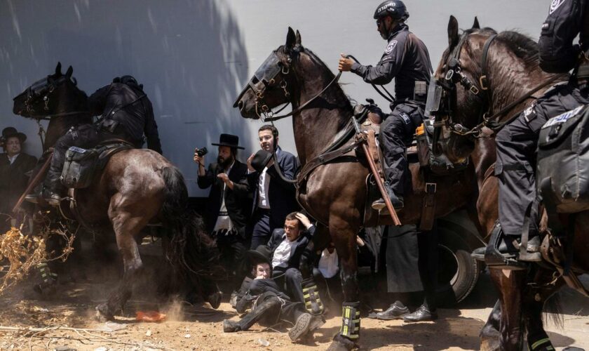
[[[302,51],[301,34],[289,27],[286,44],[270,53],[233,107],[238,107],[244,118],[259,119],[261,115],[271,117],[274,107],[291,102],[292,87],[296,86],[292,73]]]

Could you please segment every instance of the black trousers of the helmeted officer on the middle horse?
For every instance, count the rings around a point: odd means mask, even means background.
[[[405,193],[411,184],[407,166],[407,147],[415,129],[423,123],[424,112],[416,103],[401,102],[381,124],[379,143],[384,155],[384,173],[391,190],[397,195]]]

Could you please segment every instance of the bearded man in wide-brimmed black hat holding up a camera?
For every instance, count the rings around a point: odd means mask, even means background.
[[[252,197],[248,192],[248,166],[236,159],[238,146],[237,135],[221,134],[217,163],[210,164],[205,171],[204,155],[199,156],[198,149],[194,151],[194,162],[198,164],[198,187],[211,187],[205,224],[208,232],[217,241],[221,253],[222,263],[231,274],[230,279],[235,282],[233,288],[238,288],[239,265],[247,249],[245,225],[250,218]],[[237,275],[236,275],[237,274]],[[237,278],[236,278],[237,277]]]

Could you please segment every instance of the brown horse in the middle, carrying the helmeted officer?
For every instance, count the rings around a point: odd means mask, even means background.
[[[353,116],[351,102],[338,84],[328,86],[334,80],[334,74],[316,55],[302,46],[299,32],[295,34],[291,28],[288,29],[286,44],[271,53],[266,64],[258,69],[256,77],[245,86],[236,107],[243,117],[259,119],[259,112],[266,107],[290,102],[295,111],[292,127],[303,167],[346,132]],[[259,77],[267,79],[261,81]],[[299,110],[324,88],[318,98]],[[353,143],[353,138],[350,139],[344,147]],[[413,188],[405,197],[405,208],[399,213],[403,224],[419,222],[425,195],[424,177],[419,165],[412,164],[410,168]],[[392,223],[388,216],[372,216],[372,221],[363,223],[368,173],[363,157],[356,157],[354,152],[350,152],[315,168],[306,182],[299,183],[298,188],[299,203],[319,222],[313,238],[316,249],[323,249],[330,239],[337,249],[344,306],[358,301],[356,233],[361,226]],[[476,180],[472,168],[452,177],[435,177],[435,182],[438,183],[436,217],[451,213],[475,197]],[[349,348],[353,347],[353,342],[337,334],[332,346]]]

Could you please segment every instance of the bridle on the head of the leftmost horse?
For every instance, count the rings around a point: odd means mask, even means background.
[[[74,86],[78,84],[74,77],[69,77],[68,75],[62,75],[57,79],[51,78],[48,76],[46,78],[40,79],[39,81],[34,82],[26,91],[21,93],[20,95],[16,96],[14,100],[20,98],[20,96],[25,95],[25,110],[29,117],[34,119],[51,119],[53,117],[63,117],[69,116],[74,114],[83,114],[88,113],[87,111],[74,111],[74,112],[64,112],[60,114],[47,114],[43,112],[49,111],[49,103],[50,103],[50,94],[55,91],[57,86],[64,84],[67,81],[71,81]],[[37,102],[39,99],[42,99],[43,104],[43,112],[36,111],[34,109],[34,103]]]

